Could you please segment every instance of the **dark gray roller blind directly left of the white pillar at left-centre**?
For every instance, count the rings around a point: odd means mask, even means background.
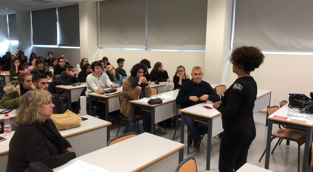
[[[80,47],[78,5],[58,8],[59,46]]]

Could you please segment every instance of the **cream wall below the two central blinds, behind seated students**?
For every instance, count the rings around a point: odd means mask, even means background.
[[[114,67],[117,67],[116,60],[124,58],[124,69],[127,75],[130,75],[130,70],[133,65],[139,63],[142,59],[148,59],[151,62],[152,70],[154,64],[160,61],[163,67],[167,70],[170,79],[173,79],[177,66],[183,65],[188,74],[191,73],[193,66],[204,68],[204,52],[165,52],[165,51],[134,51],[134,50],[99,50],[99,60],[102,57],[108,57],[109,62]],[[90,61],[89,61],[90,62]],[[91,63],[91,62],[90,62]],[[204,74],[205,75],[205,74]]]

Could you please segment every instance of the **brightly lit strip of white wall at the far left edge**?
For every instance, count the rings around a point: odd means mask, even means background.
[[[6,15],[0,15],[0,23],[0,56],[2,57],[7,51],[9,51],[9,35]]]

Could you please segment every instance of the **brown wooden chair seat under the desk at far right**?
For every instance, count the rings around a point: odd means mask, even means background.
[[[273,136],[284,137],[284,139],[296,140],[299,144],[305,142],[305,134],[300,134],[292,130],[279,129],[273,132]]]

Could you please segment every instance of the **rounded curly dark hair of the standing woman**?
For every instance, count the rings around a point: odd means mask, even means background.
[[[263,63],[264,55],[257,47],[242,46],[235,48],[228,58],[233,65],[241,65],[244,71],[249,73],[259,68]]]

